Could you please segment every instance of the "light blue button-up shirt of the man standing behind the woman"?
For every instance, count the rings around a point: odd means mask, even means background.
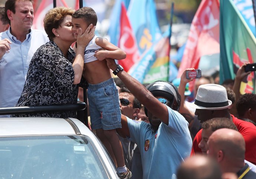
[[[37,48],[49,41],[42,30],[32,30],[26,40],[19,41],[10,33],[10,29],[0,33],[0,40],[8,38],[12,44],[9,53],[0,59],[0,107],[14,107],[20,98],[30,61]],[[10,115],[0,115],[8,117]]]

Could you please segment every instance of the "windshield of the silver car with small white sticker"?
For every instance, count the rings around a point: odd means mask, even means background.
[[[0,179],[108,178],[83,136],[0,138]]]

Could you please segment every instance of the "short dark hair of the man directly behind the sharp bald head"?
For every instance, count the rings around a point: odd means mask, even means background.
[[[222,128],[234,129],[238,131],[236,125],[234,125],[233,121],[229,118],[213,118],[202,123],[202,129],[209,128],[211,128],[211,131],[216,131],[217,129]]]

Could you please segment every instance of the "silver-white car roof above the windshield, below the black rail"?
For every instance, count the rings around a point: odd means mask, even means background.
[[[0,137],[24,135],[92,135],[92,132],[74,118],[0,118]]]

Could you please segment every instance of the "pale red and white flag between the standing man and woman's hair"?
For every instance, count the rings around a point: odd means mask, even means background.
[[[56,0],[56,6],[68,7],[65,0]],[[45,14],[47,13],[47,11],[49,11],[50,9],[53,9],[53,0],[42,0],[38,9],[35,12],[32,28],[39,30],[45,29],[43,27],[43,19],[45,18]]]

